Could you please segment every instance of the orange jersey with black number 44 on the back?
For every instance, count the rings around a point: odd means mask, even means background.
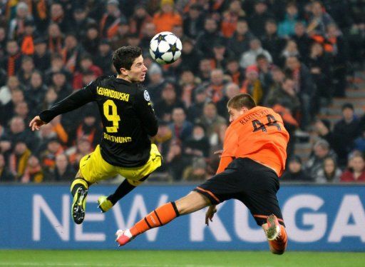
[[[251,158],[282,175],[287,160],[289,133],[282,117],[272,109],[256,106],[225,132],[222,158]]]

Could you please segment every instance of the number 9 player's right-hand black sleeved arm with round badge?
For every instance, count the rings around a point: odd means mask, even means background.
[[[149,136],[155,136],[158,132],[158,121],[150,103],[148,91],[139,91],[135,97],[135,109],[142,123],[143,129]]]

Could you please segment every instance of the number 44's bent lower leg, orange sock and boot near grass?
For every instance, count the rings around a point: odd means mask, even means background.
[[[287,248],[287,231],[277,220],[274,214],[267,217],[267,229],[265,230],[269,241],[270,251],[274,254],[282,254]]]

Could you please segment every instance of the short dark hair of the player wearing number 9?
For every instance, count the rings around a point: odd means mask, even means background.
[[[138,46],[122,46],[114,51],[113,65],[118,74],[120,74],[120,68],[130,70],[133,61],[142,55],[142,49]]]

